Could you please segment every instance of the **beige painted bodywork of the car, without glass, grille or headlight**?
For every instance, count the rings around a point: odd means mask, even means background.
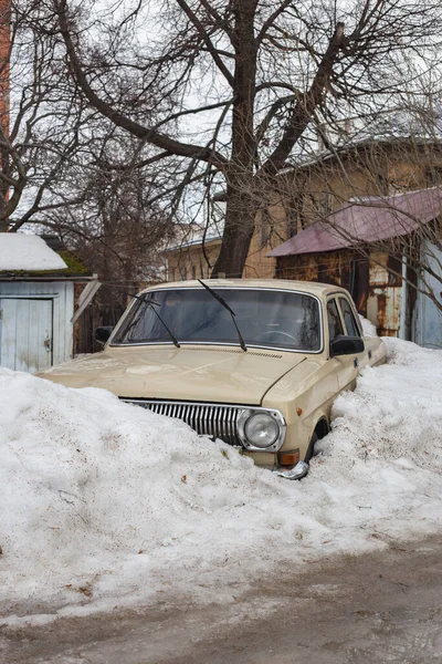
[[[323,319],[327,298],[347,291],[336,287],[288,280],[213,280],[214,287],[295,290],[318,298]],[[178,282],[180,288],[201,288],[196,281]],[[144,292],[170,288],[160,284]],[[355,308],[352,307],[354,311]],[[356,313],[356,311],[355,311]],[[123,319],[122,319],[123,320]],[[343,390],[355,386],[359,366],[385,362],[379,339],[366,339],[358,356],[329,357],[328,328],[324,326],[324,350],[319,353],[287,352],[225,344],[149,344],[113,346],[112,338],[102,353],[53,367],[42,377],[69,387],[94,386],[120,397],[160,398],[220,404],[240,404],[278,409],[287,425],[282,452],[299,449],[305,457],[320,419],[330,418],[333,401]],[[368,351],[372,356],[368,359]],[[301,409],[301,411],[299,411]],[[263,466],[277,464],[275,454],[246,453]]]

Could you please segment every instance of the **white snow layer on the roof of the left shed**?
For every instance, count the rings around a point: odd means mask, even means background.
[[[64,260],[34,235],[0,232],[0,271],[65,270]]]

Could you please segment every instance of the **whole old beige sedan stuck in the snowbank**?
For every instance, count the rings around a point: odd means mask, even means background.
[[[42,376],[178,417],[288,478],[308,470],[336,396],[386,361],[346,290],[288,280],[156,286],[96,335],[103,352]]]

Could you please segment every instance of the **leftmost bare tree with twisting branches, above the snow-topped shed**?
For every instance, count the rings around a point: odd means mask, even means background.
[[[0,6],[0,231],[71,203],[56,181],[84,143],[86,110],[66,79],[63,52],[42,34],[36,2]]]

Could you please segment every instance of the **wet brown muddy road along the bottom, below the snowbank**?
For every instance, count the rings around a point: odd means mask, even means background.
[[[439,664],[442,538],[284,567],[243,596],[3,629],[8,664]],[[3,655],[3,658],[2,658]]]

